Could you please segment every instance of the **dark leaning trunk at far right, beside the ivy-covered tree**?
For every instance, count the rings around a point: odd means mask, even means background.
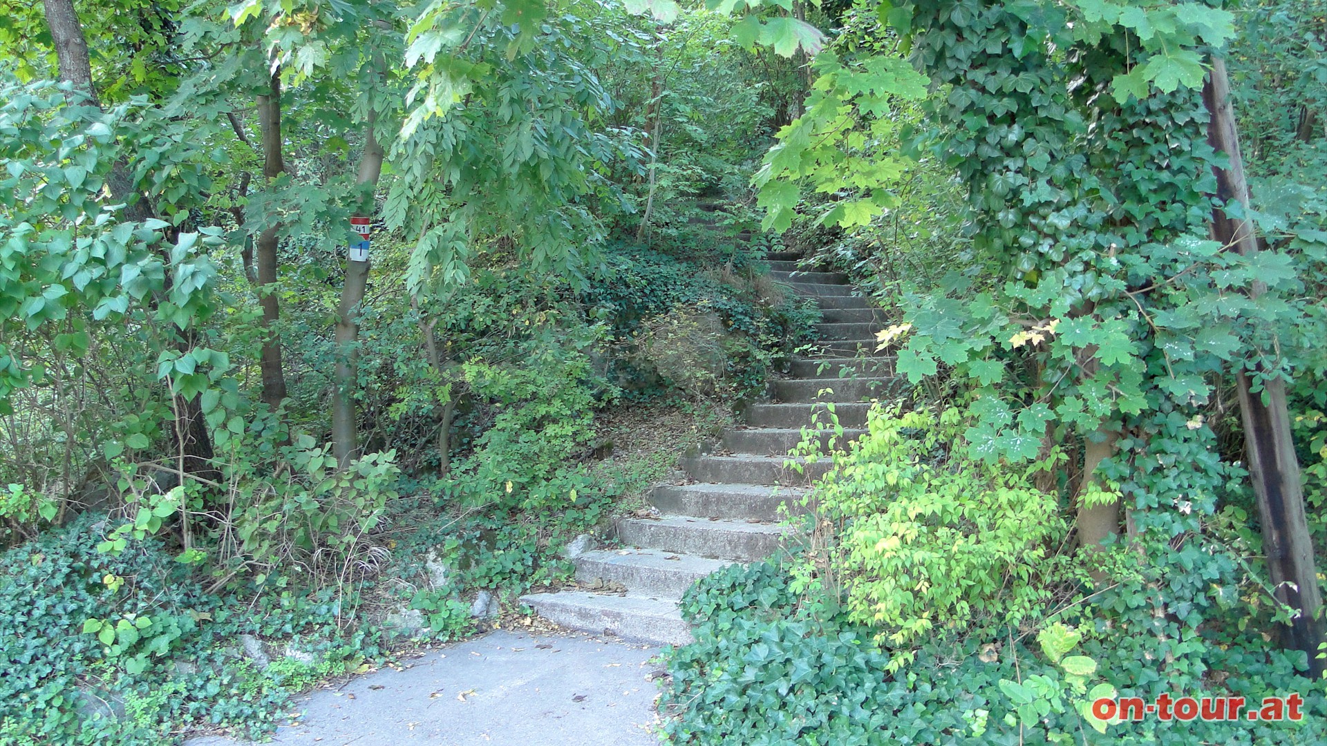
[[[1226,65],[1220,57],[1212,60],[1212,73],[1202,89],[1202,98],[1212,113],[1208,142],[1230,158],[1229,169],[1216,170],[1217,196],[1223,203],[1239,202],[1247,207],[1249,185],[1245,182],[1239,155],[1239,134],[1230,106]],[[1251,256],[1258,252],[1254,227],[1249,220],[1233,219],[1221,210],[1213,210],[1212,234],[1241,255]],[[1254,283],[1249,295],[1257,297],[1265,291],[1262,283]],[[1323,662],[1318,660],[1318,645],[1323,641],[1322,593],[1318,588],[1308,520],[1304,516],[1299,462],[1291,439],[1286,384],[1281,378],[1267,380],[1259,394],[1253,390],[1253,378],[1247,370],[1241,368],[1237,380],[1249,451],[1249,477],[1258,498],[1267,572],[1275,584],[1277,597],[1299,609],[1299,615],[1283,631],[1285,644],[1308,654],[1311,676],[1318,678],[1323,670]]]

